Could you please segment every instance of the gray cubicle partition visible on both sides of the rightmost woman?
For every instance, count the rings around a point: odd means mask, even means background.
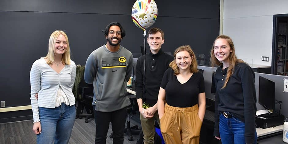
[[[215,71],[216,68],[208,67],[208,66],[198,66],[198,68],[204,70],[204,81],[205,81],[205,91],[206,97],[215,100],[215,95],[211,94],[211,80],[212,80],[212,71]],[[259,93],[259,76],[267,78],[273,82],[275,82],[275,99],[282,101],[281,104],[281,114],[284,116],[288,116],[288,93],[283,92],[284,89],[284,78],[288,79],[287,76],[273,75],[273,74],[262,74],[255,73],[255,88],[257,95],[257,110],[265,109],[258,103],[258,93]],[[267,96],[268,97],[268,96]],[[275,110],[279,112],[279,104],[275,105]]]

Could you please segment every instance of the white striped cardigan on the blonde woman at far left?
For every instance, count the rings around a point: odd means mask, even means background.
[[[36,60],[30,71],[31,105],[33,112],[33,123],[39,122],[39,108],[55,108],[55,99],[59,86],[66,94],[69,104],[75,104],[72,93],[76,77],[76,65],[71,60],[70,65],[65,65],[58,74],[45,61],[44,58]],[[35,95],[38,93],[38,100]]]

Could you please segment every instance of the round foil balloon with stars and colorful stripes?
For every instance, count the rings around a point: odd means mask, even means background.
[[[132,21],[134,24],[144,31],[146,35],[146,28],[154,24],[157,18],[157,5],[154,0],[136,0],[132,7]]]

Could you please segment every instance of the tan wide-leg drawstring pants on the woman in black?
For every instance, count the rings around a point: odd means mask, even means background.
[[[166,103],[160,123],[166,144],[199,144],[202,121],[198,116],[198,104],[178,108]]]

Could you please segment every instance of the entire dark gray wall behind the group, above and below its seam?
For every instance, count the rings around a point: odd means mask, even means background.
[[[131,20],[135,0],[2,0],[0,1],[0,100],[6,107],[30,105],[29,72],[32,63],[47,54],[49,36],[56,29],[66,32],[72,60],[84,65],[88,55],[106,43],[101,32],[110,22],[120,22],[127,32],[121,44],[140,52],[143,31]],[[152,27],[165,32],[162,48],[172,52],[189,44],[196,54],[209,57],[219,34],[220,0],[156,0],[158,17]],[[146,50],[149,45],[146,44]],[[9,112],[2,113],[9,117]],[[23,114],[25,116],[27,114]],[[1,119],[1,118],[0,118]]]

